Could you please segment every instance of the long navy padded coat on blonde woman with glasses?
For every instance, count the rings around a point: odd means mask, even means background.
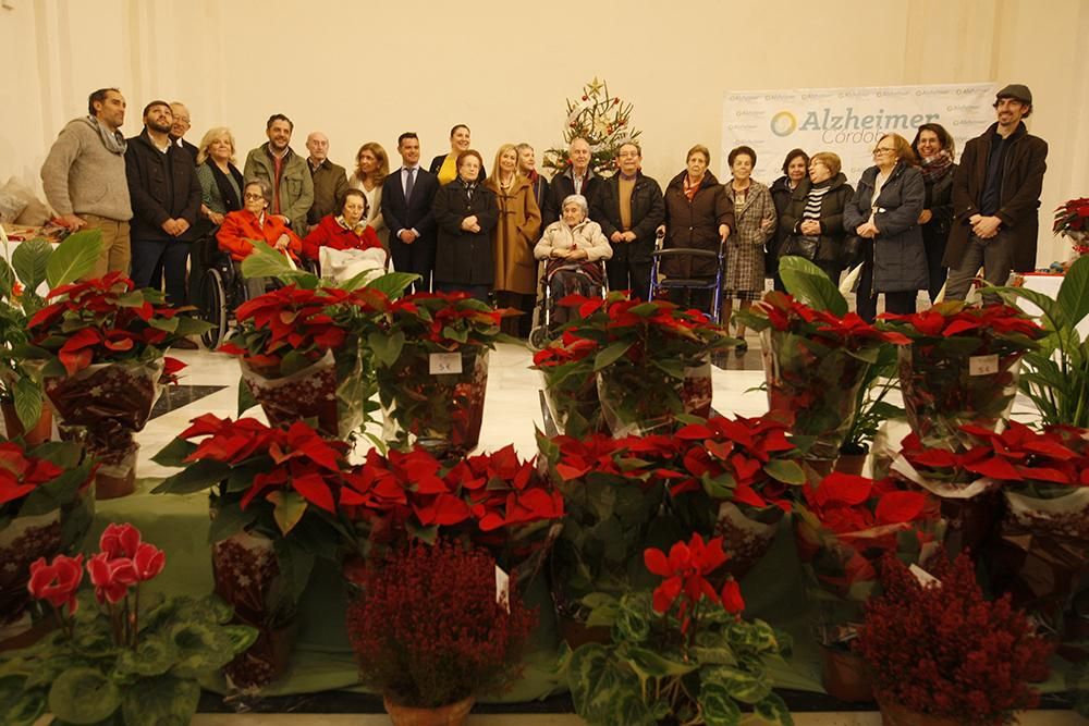
[[[871,198],[878,168],[870,167],[858,180],[858,188],[843,212],[847,234],[870,218]],[[919,214],[926,199],[922,172],[903,161],[878,196],[873,223],[879,230],[873,238],[873,292],[897,293],[926,290],[930,281],[927,250],[922,245]]]

